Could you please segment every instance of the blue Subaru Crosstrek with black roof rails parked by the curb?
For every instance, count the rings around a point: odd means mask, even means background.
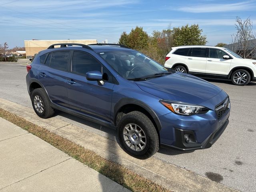
[[[27,66],[38,116],[61,110],[114,127],[122,148],[148,158],[160,145],[209,148],[228,125],[226,92],[116,44],[54,44]]]

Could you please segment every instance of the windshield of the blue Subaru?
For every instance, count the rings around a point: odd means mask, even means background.
[[[126,79],[143,78],[169,73],[168,69],[135,50],[98,53],[116,72]]]

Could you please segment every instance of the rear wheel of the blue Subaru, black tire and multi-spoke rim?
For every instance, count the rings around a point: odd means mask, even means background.
[[[41,106],[43,106],[43,108],[40,108],[42,109],[42,112],[39,110],[39,108],[36,108],[38,106],[35,106],[35,103],[34,103],[35,99],[38,101],[37,103],[41,103]],[[42,102],[40,102],[39,100]],[[54,109],[50,106],[50,100],[46,95],[46,92],[42,88],[37,88],[33,90],[31,94],[31,102],[32,102],[34,111],[39,117],[46,119],[54,115]]]

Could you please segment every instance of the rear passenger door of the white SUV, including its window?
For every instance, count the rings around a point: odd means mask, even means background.
[[[186,64],[190,72],[205,73],[208,48],[194,47],[186,57]]]

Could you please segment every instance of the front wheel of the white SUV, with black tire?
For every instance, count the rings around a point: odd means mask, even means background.
[[[244,69],[238,69],[232,73],[231,81],[234,85],[244,86],[251,80],[250,73]]]

